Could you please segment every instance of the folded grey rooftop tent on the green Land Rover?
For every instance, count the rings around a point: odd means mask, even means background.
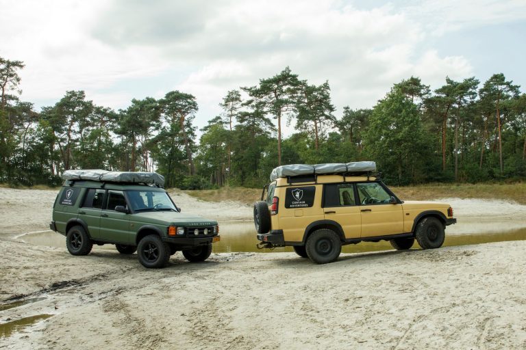
[[[164,186],[164,176],[155,172],[108,172],[107,170],[66,170],[64,180],[92,180],[108,183],[147,183]]]

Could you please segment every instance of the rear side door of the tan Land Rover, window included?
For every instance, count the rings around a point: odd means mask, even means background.
[[[354,185],[351,183],[325,185],[323,213],[326,220],[342,226],[345,238],[360,238],[362,218],[360,206],[355,202]]]

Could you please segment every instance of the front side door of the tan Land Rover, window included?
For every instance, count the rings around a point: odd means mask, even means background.
[[[402,204],[391,204],[391,195],[380,183],[357,183],[362,236],[377,237],[403,233]]]

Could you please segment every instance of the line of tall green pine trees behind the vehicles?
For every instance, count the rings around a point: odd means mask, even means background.
[[[495,74],[431,91],[418,77],[395,83],[371,109],[340,116],[328,81],[286,67],[228,91],[197,139],[195,96],[133,99],[114,111],[68,91],[36,111],[23,102],[21,61],[0,57],[0,182],[58,185],[68,169],[156,171],[167,187],[260,187],[277,165],[377,162],[393,184],[478,182],[526,176],[526,94]],[[283,128],[294,132],[287,137]]]

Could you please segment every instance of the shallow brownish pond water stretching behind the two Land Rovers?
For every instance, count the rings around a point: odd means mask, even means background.
[[[293,252],[292,247],[281,247],[275,250],[258,250],[255,245],[258,240],[255,238],[255,229],[251,221],[229,221],[220,222],[219,234],[221,234],[221,241],[214,243],[214,253],[229,253],[229,252]],[[464,224],[469,226],[471,224]],[[459,225],[460,226],[460,225]],[[462,227],[465,232],[466,227]],[[501,231],[476,233],[462,233],[462,234],[448,234],[446,230],[446,240],[444,246],[449,245],[469,245],[479,243],[501,242],[501,241],[522,241],[526,240],[526,223],[521,228],[503,227],[500,225]],[[47,245],[50,247],[61,247],[66,249],[66,239],[62,234],[56,232],[38,232],[34,234],[26,234],[21,237],[26,243],[34,245]],[[114,245],[103,245],[106,249],[115,249]],[[415,243],[414,247],[418,247]],[[342,247],[344,253],[360,253],[360,252],[376,252],[379,250],[392,250],[392,247],[387,241],[362,242],[358,244],[345,245]]]

